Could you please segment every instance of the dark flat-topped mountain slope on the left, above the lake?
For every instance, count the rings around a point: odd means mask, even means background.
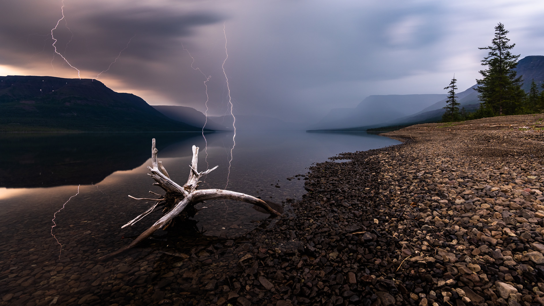
[[[198,131],[92,79],[0,77],[0,130]]]

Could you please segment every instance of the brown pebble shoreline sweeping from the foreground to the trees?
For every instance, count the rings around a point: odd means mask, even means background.
[[[81,275],[54,268],[0,305],[544,305],[543,118],[387,133],[407,141],[312,166],[301,201],[238,239],[66,259]]]

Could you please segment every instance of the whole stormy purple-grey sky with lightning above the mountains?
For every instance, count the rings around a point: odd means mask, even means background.
[[[446,93],[454,73],[469,88],[499,22],[514,54],[544,55],[543,15],[541,0],[3,0],[0,75],[202,112],[207,85],[208,115],[230,89],[234,114],[313,123],[369,95]]]

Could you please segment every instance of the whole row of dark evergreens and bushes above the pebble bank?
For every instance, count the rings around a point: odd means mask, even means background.
[[[495,35],[491,40],[491,46],[478,48],[487,49],[487,57],[481,60],[481,65],[487,69],[480,70],[481,79],[477,79],[478,98],[480,108],[473,113],[467,113],[465,108],[459,108],[460,103],[455,95],[457,80],[455,76],[446,86],[448,97],[446,101],[446,112],[442,115],[443,122],[472,120],[485,117],[503,115],[523,115],[544,112],[544,91],[540,91],[533,79],[529,92],[525,92],[523,76],[517,76],[514,68],[517,66],[517,59],[521,54],[514,55],[510,52],[516,46],[509,45],[510,39],[506,38],[508,30],[499,23],[495,27]],[[540,86],[544,89],[544,84]]]

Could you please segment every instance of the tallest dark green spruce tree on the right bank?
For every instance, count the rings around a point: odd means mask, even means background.
[[[525,91],[521,88],[522,76],[516,76],[514,68],[520,55],[513,55],[510,50],[515,43],[508,45],[510,39],[506,38],[508,31],[499,23],[495,27],[495,37],[491,40],[491,46],[478,49],[487,49],[487,57],[481,65],[487,66],[486,70],[480,70],[482,79],[477,79],[476,90],[478,98],[483,103],[481,106],[495,115],[514,115],[521,106]]]

